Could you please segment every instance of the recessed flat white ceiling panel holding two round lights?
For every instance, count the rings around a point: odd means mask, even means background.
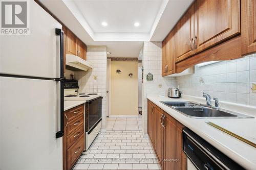
[[[163,0],[81,1],[78,10],[94,33],[150,33]],[[107,22],[103,27],[101,22]],[[139,22],[139,27],[134,23]]]

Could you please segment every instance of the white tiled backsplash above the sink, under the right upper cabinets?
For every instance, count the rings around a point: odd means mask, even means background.
[[[222,101],[256,106],[256,93],[251,90],[256,82],[256,55],[196,66],[195,74],[177,77],[176,82],[183,94],[202,97],[206,92]]]

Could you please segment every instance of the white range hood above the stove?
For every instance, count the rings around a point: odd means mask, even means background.
[[[73,71],[87,71],[92,68],[93,65],[86,60],[72,54],[66,54],[66,69]]]

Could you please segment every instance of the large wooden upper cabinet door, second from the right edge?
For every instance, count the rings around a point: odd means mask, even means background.
[[[239,0],[197,0],[195,2],[196,35],[193,39],[195,53],[219,44],[240,32]]]

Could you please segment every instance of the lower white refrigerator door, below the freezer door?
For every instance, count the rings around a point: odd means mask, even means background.
[[[0,77],[0,169],[62,169],[59,93],[60,82]]]

